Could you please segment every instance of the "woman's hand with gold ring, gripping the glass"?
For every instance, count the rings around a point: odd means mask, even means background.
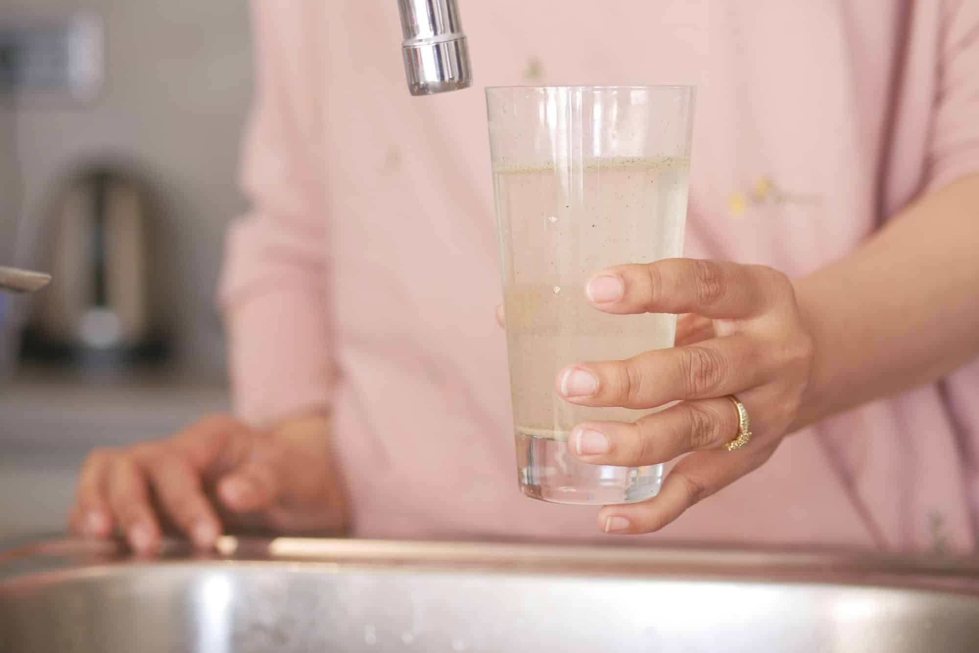
[[[654,498],[602,508],[606,533],[657,531],[769,459],[799,412],[814,348],[795,290],[760,265],[671,258],[613,267],[587,285],[589,302],[619,315],[683,313],[676,347],[628,360],[580,362],[557,376],[565,400],[585,406],[648,409],[680,403],[635,423],[585,422],[569,447],[584,462],[637,467],[682,454]],[[743,448],[735,395],[751,417]]]

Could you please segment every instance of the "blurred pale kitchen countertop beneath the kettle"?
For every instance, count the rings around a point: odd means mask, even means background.
[[[186,373],[93,377],[28,368],[0,384],[0,449],[81,451],[132,443],[227,411],[229,404],[223,383]]]

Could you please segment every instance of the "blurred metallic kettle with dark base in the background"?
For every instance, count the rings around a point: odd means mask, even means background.
[[[46,244],[57,282],[39,298],[25,358],[161,358],[150,298],[149,192],[110,167],[84,171],[58,199]]]

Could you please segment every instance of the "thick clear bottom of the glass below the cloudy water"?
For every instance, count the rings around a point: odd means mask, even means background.
[[[568,441],[517,434],[520,489],[551,503],[607,505],[635,503],[656,496],[663,465],[589,465],[568,451]]]

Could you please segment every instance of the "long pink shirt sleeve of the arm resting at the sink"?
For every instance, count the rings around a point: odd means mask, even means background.
[[[242,183],[252,210],[229,230],[219,301],[238,414],[265,425],[327,407],[333,378],[315,146],[319,49],[305,11],[254,0],[256,101]]]

